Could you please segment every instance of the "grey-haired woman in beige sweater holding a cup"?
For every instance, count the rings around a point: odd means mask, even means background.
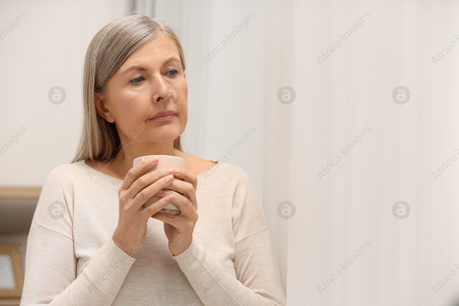
[[[145,15],[110,22],[88,47],[83,94],[77,154],[48,174],[34,214],[21,305],[285,305],[246,172],[181,150],[176,34]],[[132,167],[146,155],[179,156],[186,169]],[[159,211],[168,202],[179,217]]]

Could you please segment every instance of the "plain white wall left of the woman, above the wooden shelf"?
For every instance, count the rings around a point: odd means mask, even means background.
[[[0,41],[0,146],[27,129],[0,156],[1,185],[42,185],[52,168],[73,158],[83,118],[80,72],[86,48],[102,25],[130,9],[124,0],[78,1],[0,4],[0,31],[21,12],[27,15]],[[61,105],[48,100],[53,86],[67,92]]]

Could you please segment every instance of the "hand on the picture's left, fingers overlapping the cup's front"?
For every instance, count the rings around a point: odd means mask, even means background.
[[[160,169],[144,174],[156,165],[157,158],[155,161],[141,161],[129,170],[118,190],[118,226],[112,239],[115,245],[131,257],[145,243],[150,217],[172,200],[172,195],[168,195],[146,208],[143,207],[147,200],[161,189],[167,188],[174,180],[174,169],[172,173],[168,172],[170,169]]]

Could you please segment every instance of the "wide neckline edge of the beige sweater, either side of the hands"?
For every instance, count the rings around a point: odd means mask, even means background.
[[[105,184],[108,184],[116,189],[119,189],[121,187],[121,184],[123,184],[123,180],[119,178],[112,177],[111,175],[108,175],[106,173],[100,172],[96,170],[95,168],[87,165],[85,160],[82,159],[80,161],[74,162],[76,166],[79,166],[84,172],[88,173],[90,176],[90,179],[97,179]],[[211,161],[211,160],[208,160]],[[202,185],[205,184],[206,182],[209,181],[209,177],[213,176],[214,174],[217,174],[222,171],[223,168],[227,167],[228,165],[224,164],[223,162],[220,161],[212,161],[214,163],[213,167],[208,169],[205,172],[202,172],[198,175],[196,175],[197,178],[197,184]],[[216,163],[216,164],[215,164]]]

